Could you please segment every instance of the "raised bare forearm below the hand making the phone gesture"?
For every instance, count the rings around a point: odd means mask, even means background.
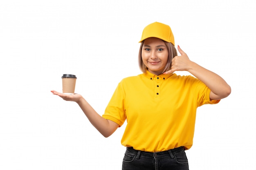
[[[222,77],[195,62],[191,62],[188,71],[211,89],[211,92],[214,93],[211,95],[212,99],[223,99],[231,93],[230,86]]]

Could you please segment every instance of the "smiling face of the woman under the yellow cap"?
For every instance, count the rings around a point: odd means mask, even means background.
[[[159,38],[147,38],[142,46],[141,57],[150,73],[160,75],[168,60],[167,46]]]

